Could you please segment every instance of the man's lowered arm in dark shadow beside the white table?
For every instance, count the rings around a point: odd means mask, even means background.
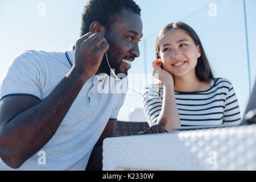
[[[90,159],[86,166],[86,171],[101,171],[102,170],[102,143],[105,138],[113,137],[115,132],[115,126],[117,121],[109,119],[101,137],[95,144],[92,153],[90,154]]]

